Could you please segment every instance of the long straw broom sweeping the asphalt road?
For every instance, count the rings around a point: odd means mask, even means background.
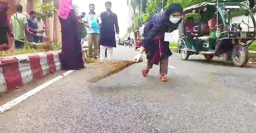
[[[140,58],[139,62],[143,62],[143,59]],[[99,62],[98,64],[102,64],[103,66],[96,71],[96,75],[92,79],[90,79],[89,82],[95,83],[110,75],[121,72],[123,69],[135,63],[137,63],[136,60]]]

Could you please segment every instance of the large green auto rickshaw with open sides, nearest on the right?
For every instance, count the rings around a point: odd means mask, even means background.
[[[247,20],[233,22],[232,15],[237,13],[247,16]],[[250,9],[241,3],[217,0],[185,8],[184,14],[179,26],[183,37],[177,46],[182,60],[203,54],[207,61],[219,56],[235,66],[247,64],[247,47],[256,39],[256,23]]]

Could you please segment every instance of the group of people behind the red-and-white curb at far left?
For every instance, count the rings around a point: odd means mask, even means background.
[[[41,17],[37,17],[35,11],[27,14],[23,11],[21,5],[16,5],[16,13],[12,14],[8,21],[7,10],[9,6],[7,2],[0,2],[0,44],[10,44],[7,36],[13,41],[15,48],[23,48],[24,41],[40,43],[44,42],[46,37],[45,25]],[[10,26],[9,26],[10,25]]]

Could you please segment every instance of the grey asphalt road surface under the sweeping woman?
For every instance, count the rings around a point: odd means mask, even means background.
[[[256,133],[256,66],[174,54],[161,83],[159,67],[143,77],[144,65],[89,85],[99,66],[88,64],[0,114],[0,133]]]

